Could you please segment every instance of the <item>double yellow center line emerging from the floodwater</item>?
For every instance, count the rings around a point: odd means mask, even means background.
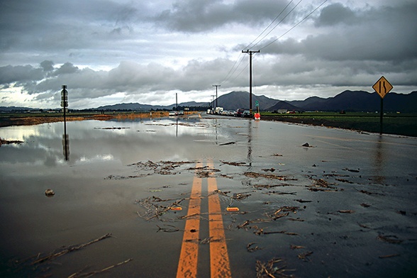
[[[196,168],[201,168],[201,162]],[[213,161],[207,163],[213,169]],[[185,223],[184,238],[179,255],[177,278],[197,277],[197,262],[199,258],[199,228],[201,213],[201,184],[200,177],[194,177],[191,196]],[[210,273],[211,277],[232,277],[226,237],[221,216],[220,199],[218,199],[217,182],[213,173],[207,178],[208,184],[208,228],[210,236]]]

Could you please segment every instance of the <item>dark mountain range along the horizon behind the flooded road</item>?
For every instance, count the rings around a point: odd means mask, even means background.
[[[367,91],[343,91],[340,94],[323,99],[318,96],[312,96],[304,101],[280,101],[270,99],[267,96],[256,96],[252,94],[252,109],[256,109],[256,102],[259,104],[261,111],[277,111],[279,109],[287,109],[289,111],[379,111],[381,101],[380,96],[374,92]],[[216,106],[216,100],[213,101]],[[248,91],[231,91],[223,94],[217,99],[218,106],[225,110],[249,109],[249,93]],[[114,104],[91,108],[91,110],[99,111],[150,111],[151,109],[167,109],[171,110],[176,104],[168,106],[155,106],[149,104]],[[208,108],[211,103],[208,102],[184,102],[178,104],[179,107],[200,107]],[[0,111],[18,111],[18,110],[34,110],[24,107],[4,107],[0,106]],[[384,97],[384,111],[401,112],[401,113],[417,113],[417,91],[410,94],[389,93]]]

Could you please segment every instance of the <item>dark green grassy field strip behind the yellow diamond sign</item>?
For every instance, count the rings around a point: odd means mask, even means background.
[[[304,123],[379,133],[379,113],[306,112],[295,114],[261,113],[261,119]],[[417,114],[387,113],[383,118],[383,133],[417,137]]]

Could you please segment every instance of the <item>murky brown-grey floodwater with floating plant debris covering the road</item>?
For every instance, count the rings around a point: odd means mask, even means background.
[[[101,277],[175,277],[191,186],[204,171],[217,182],[232,277],[256,277],[272,259],[282,261],[269,272],[294,277],[417,274],[416,138],[206,115],[66,130],[65,155],[63,123],[0,128],[23,141],[0,148],[1,277],[110,266]],[[213,271],[207,177],[198,277]],[[164,210],[174,203],[182,210]]]

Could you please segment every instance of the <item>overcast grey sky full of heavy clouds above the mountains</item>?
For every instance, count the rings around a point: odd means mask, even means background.
[[[0,0],[0,106],[417,90],[415,0]]]

